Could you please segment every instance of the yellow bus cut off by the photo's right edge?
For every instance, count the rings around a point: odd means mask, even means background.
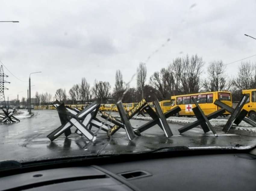
[[[256,89],[242,90],[242,94],[247,94],[249,98],[245,102],[243,109],[248,111],[248,116],[252,120],[256,120]]]

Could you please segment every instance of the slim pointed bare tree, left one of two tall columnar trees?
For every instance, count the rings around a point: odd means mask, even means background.
[[[125,90],[125,84],[123,81],[123,75],[120,70],[116,71],[116,83],[113,90],[113,98],[115,101],[121,98],[123,92]]]

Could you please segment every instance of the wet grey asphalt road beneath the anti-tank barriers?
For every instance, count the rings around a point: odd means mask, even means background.
[[[51,142],[46,136],[61,125],[56,110],[36,110],[35,115],[22,119],[20,123],[0,125],[0,160],[42,160],[49,158],[70,157],[78,155],[122,154],[154,150],[160,147],[186,146],[186,147],[233,147],[236,144],[243,146],[256,145],[256,137],[217,132],[215,138],[211,132],[204,134],[198,128],[191,129],[182,135],[178,130],[180,125],[170,124],[173,132],[171,138],[166,138],[160,127],[153,126],[140,137],[129,141],[123,129],[120,129],[111,138],[106,132],[99,131],[94,143],[87,144],[85,137],[74,134],[68,138],[64,134]],[[100,120],[104,119],[98,117]],[[137,128],[147,121],[130,120],[132,126]],[[98,129],[93,127],[96,132]]]

